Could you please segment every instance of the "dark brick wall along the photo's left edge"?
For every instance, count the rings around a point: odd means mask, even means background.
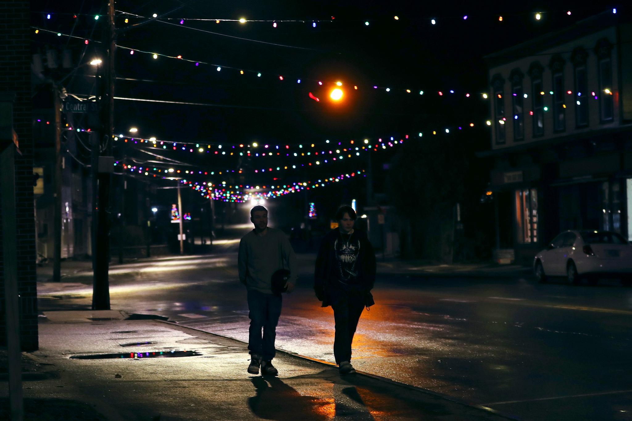
[[[0,0],[0,91],[16,93],[13,104],[13,128],[18,134],[22,152],[21,156],[16,156],[15,161],[15,201],[20,341],[25,351],[38,348],[29,25],[29,1]],[[0,224],[1,236],[2,225]],[[0,345],[6,345],[3,273],[4,261],[2,242],[0,242]]]

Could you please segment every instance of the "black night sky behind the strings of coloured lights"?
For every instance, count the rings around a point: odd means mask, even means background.
[[[103,15],[106,10],[98,8],[97,3],[33,1],[34,27],[81,38],[40,32],[33,35],[33,52],[45,52],[49,47],[67,48],[75,65],[102,56],[102,47],[96,41],[102,39],[105,18],[97,21],[94,15]],[[467,143],[471,151],[483,150],[489,148],[489,131],[484,127],[489,104],[481,97],[487,86],[483,56],[617,6],[595,7],[587,2],[585,6],[578,2],[410,3],[413,2],[119,1],[115,7],[119,11],[118,28],[145,21],[133,15],[162,15],[184,6],[160,19],[169,23],[153,21],[119,34],[118,45],[136,51],[131,55],[129,49],[117,50],[117,76],[145,81],[118,80],[116,96],[208,105],[117,100],[114,132],[128,136],[128,129],[133,126],[138,127],[137,136],[142,138],[154,136],[191,144],[247,145],[256,141],[260,145],[305,145],[325,139],[398,139],[405,134],[420,141],[413,137],[420,131],[452,127],[454,133],[456,127],[474,122],[473,129],[457,131],[454,136],[460,136],[458,141]],[[540,21],[534,18],[537,11],[543,16]],[[52,14],[51,19],[46,18],[47,13]],[[239,18],[267,21],[214,21]],[[430,22],[432,19],[435,25]],[[277,20],[276,28],[272,20]],[[82,39],[91,41],[85,45]],[[195,66],[195,62],[162,56],[153,59],[140,51],[211,64]],[[222,66],[221,71],[217,71],[217,66]],[[245,74],[240,74],[240,69]],[[257,72],[262,76],[257,77]],[[97,92],[95,78],[89,77],[94,76],[93,66],[80,66],[67,73],[64,86],[68,92],[81,96]],[[279,80],[279,76],[284,80]],[[298,79],[301,83],[297,83]],[[318,85],[319,80],[324,85]],[[337,104],[327,98],[336,87],[335,81],[342,81],[344,90],[343,101]],[[353,89],[354,85],[358,90]],[[372,88],[374,85],[379,88]],[[387,87],[391,92],[386,92]],[[420,90],[424,95],[419,95]],[[440,90],[444,92],[442,97],[437,94]],[[311,99],[310,92],[320,102]],[[465,93],[471,96],[466,98]],[[46,95],[41,91],[34,98],[41,103],[36,107],[46,107]],[[393,150],[396,148],[389,148],[379,157],[376,153],[375,157],[387,162]],[[130,145],[119,153],[138,156]],[[273,165],[253,162],[255,158],[238,161],[211,153],[164,154],[209,170]],[[275,164],[292,162],[296,163],[282,159]],[[340,174],[363,165],[363,159],[349,158],[344,164],[286,172],[283,177],[288,182],[300,181],[301,177]],[[245,182],[269,183],[270,177],[257,174]]]

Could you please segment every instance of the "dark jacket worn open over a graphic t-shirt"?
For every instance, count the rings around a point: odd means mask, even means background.
[[[366,304],[373,305],[375,303],[370,291],[375,283],[375,252],[368,240],[366,232],[355,230],[354,234],[360,241],[358,280],[360,280],[360,285],[362,285],[362,288],[365,290]],[[320,242],[320,249],[316,258],[314,292],[316,293],[316,297],[322,301],[322,307],[327,307],[327,305],[331,304],[327,292],[331,290],[332,283],[338,282],[335,271],[337,265],[336,250],[334,249],[334,243],[338,235],[340,235],[338,228],[325,234]]]

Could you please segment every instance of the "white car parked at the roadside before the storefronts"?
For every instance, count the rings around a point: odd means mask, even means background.
[[[569,230],[557,235],[533,260],[539,282],[549,276],[566,276],[576,285],[582,278],[597,283],[599,278],[621,279],[632,285],[632,245],[610,231]]]

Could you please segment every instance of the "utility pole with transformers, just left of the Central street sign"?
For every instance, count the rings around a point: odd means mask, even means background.
[[[55,168],[53,172],[53,251],[52,280],[61,281],[61,97],[59,86],[53,83],[52,96],[55,107]]]

